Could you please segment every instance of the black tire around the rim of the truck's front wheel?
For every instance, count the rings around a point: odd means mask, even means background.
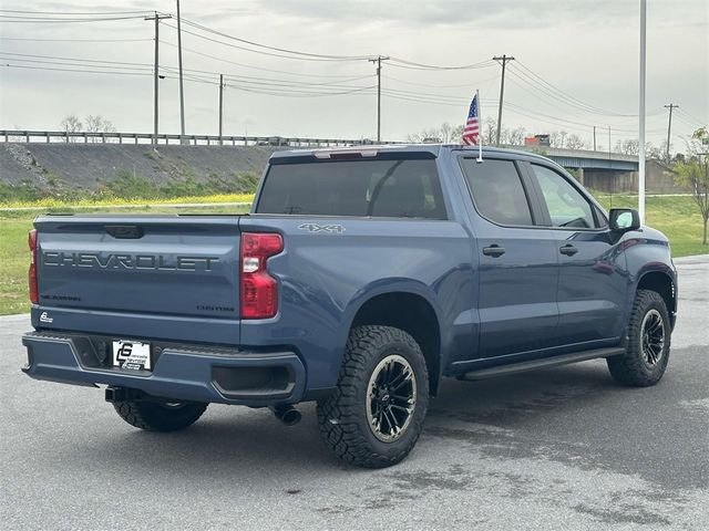
[[[644,323],[657,316],[661,320],[662,345],[655,363],[648,363],[644,353]],[[631,387],[647,387],[657,384],[667,368],[670,347],[670,320],[665,300],[656,291],[638,290],[626,331],[626,351],[619,356],[608,357],[608,369],[616,382]]]

